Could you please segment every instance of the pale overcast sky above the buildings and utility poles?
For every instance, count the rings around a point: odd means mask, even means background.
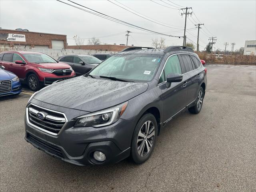
[[[63,1],[72,4],[66,0]],[[205,26],[200,29],[200,50],[204,49],[209,42],[208,38],[210,36],[217,37],[217,42],[214,45],[216,49],[224,49],[224,42],[228,42],[227,50],[231,49],[230,43],[232,42],[236,43],[234,49],[239,49],[244,47],[245,40],[256,40],[256,0],[170,0],[164,2],[157,0],[154,0],[155,2],[150,0],[111,0],[115,4],[120,2],[123,5],[118,5],[126,6],[124,7],[126,9],[131,8],[144,16],[154,19],[155,22],[165,23],[163,25],[166,26],[141,18],[107,0],[73,1],[125,22],[175,36],[183,36],[182,30],[184,29],[185,17],[180,16],[180,10],[172,8],[177,6],[175,4],[179,5],[177,7],[192,7],[194,14],[187,19],[187,29],[189,31],[186,35],[196,43],[197,29],[194,24],[198,24],[199,21],[204,23]],[[175,4],[172,4],[172,2]],[[182,45],[183,41],[182,38],[151,34],[124,26],[55,0],[0,0],[0,27],[3,29],[26,28],[33,32],[66,34],[68,45],[75,44],[72,39],[74,35],[80,36],[80,38],[94,36],[106,44],[126,44],[126,30],[132,32],[131,36],[129,36],[128,45],[151,46],[152,38],[160,37],[166,39],[165,44],[168,46]],[[187,42],[190,42],[189,39],[187,39]],[[86,39],[84,44],[87,44]]]

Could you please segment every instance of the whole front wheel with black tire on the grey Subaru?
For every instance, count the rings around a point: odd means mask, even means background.
[[[149,125],[149,128],[147,125]],[[146,132],[148,133],[145,134]],[[146,160],[148,160],[148,158],[150,158],[154,150],[156,138],[157,138],[156,118],[154,117],[154,115],[150,113],[146,113],[138,121],[134,130],[134,134],[132,136],[131,158],[134,161],[134,163],[142,164]]]

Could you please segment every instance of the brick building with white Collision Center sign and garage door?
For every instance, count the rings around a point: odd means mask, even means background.
[[[60,34],[0,29],[0,47],[67,48],[67,36]]]

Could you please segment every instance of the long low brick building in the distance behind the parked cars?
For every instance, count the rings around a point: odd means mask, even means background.
[[[84,49],[84,50],[119,52],[127,47],[131,47],[131,46],[126,46],[126,45],[70,45],[70,46],[68,46],[68,49]]]

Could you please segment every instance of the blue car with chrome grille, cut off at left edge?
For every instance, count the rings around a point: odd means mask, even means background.
[[[20,92],[19,78],[14,73],[4,70],[4,66],[0,66],[0,96],[18,95]]]

